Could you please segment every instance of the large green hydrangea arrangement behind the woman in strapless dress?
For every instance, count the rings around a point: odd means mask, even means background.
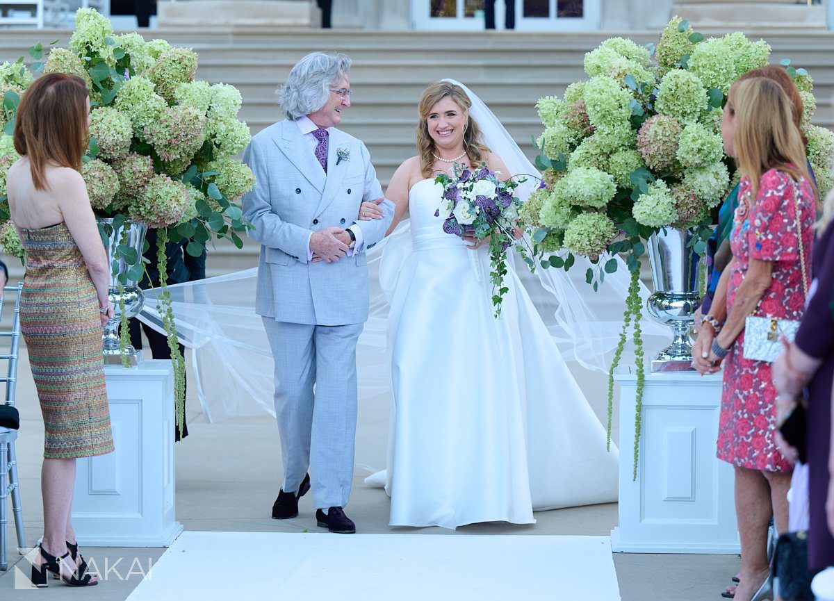
[[[239,232],[246,225],[234,201],[252,189],[254,174],[233,158],[251,139],[238,119],[237,89],[195,81],[198,57],[190,48],[146,42],[138,33],[117,36],[108,19],[89,8],[76,13],[68,48],[52,48],[44,62],[41,43],[29,53],[38,61],[32,71],[23,58],[0,65],[0,224],[8,220],[5,180],[17,158],[11,136],[20,96],[33,72],[68,73],[83,78],[90,91],[90,143],[82,173],[98,217],[113,218],[115,227],[128,220],[146,223],[158,228],[159,248],[182,242],[194,256],[212,238],[243,247]],[[112,233],[107,224],[99,227]],[[2,231],[0,244],[18,251],[13,228]],[[142,278],[144,265],[133,254],[122,257],[132,265],[120,276],[123,283]],[[165,273],[164,252],[158,262],[159,273]],[[163,310],[181,402],[184,363],[164,291]]]

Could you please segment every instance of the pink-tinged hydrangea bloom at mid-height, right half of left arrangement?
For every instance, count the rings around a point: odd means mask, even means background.
[[[145,139],[163,161],[192,158],[206,138],[206,118],[188,104],[164,108],[157,121],[145,128]]]

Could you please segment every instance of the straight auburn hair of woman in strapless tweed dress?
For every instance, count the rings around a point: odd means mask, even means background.
[[[14,122],[14,148],[29,158],[36,190],[48,188],[46,164],[81,171],[87,148],[87,84],[82,78],[48,73],[23,93]]]

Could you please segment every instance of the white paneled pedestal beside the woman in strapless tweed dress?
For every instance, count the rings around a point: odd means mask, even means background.
[[[168,547],[175,520],[173,367],[106,366],[114,453],[78,460],[73,526],[83,547]]]

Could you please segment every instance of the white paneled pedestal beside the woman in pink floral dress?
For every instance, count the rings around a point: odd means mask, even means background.
[[[620,384],[620,526],[611,548],[636,553],[738,553],[733,469],[716,458],[721,373],[646,373],[633,480],[636,375]]]

